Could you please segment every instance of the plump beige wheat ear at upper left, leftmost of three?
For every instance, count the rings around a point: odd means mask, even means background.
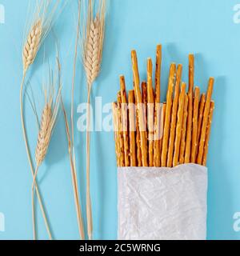
[[[42,21],[38,20],[28,34],[22,52],[23,69],[26,71],[34,62],[42,38]]]

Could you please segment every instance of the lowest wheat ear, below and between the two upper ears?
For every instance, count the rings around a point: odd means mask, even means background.
[[[38,143],[35,151],[37,166],[41,166],[50,143],[52,110],[50,104],[46,104],[42,111],[42,121],[38,133]]]

